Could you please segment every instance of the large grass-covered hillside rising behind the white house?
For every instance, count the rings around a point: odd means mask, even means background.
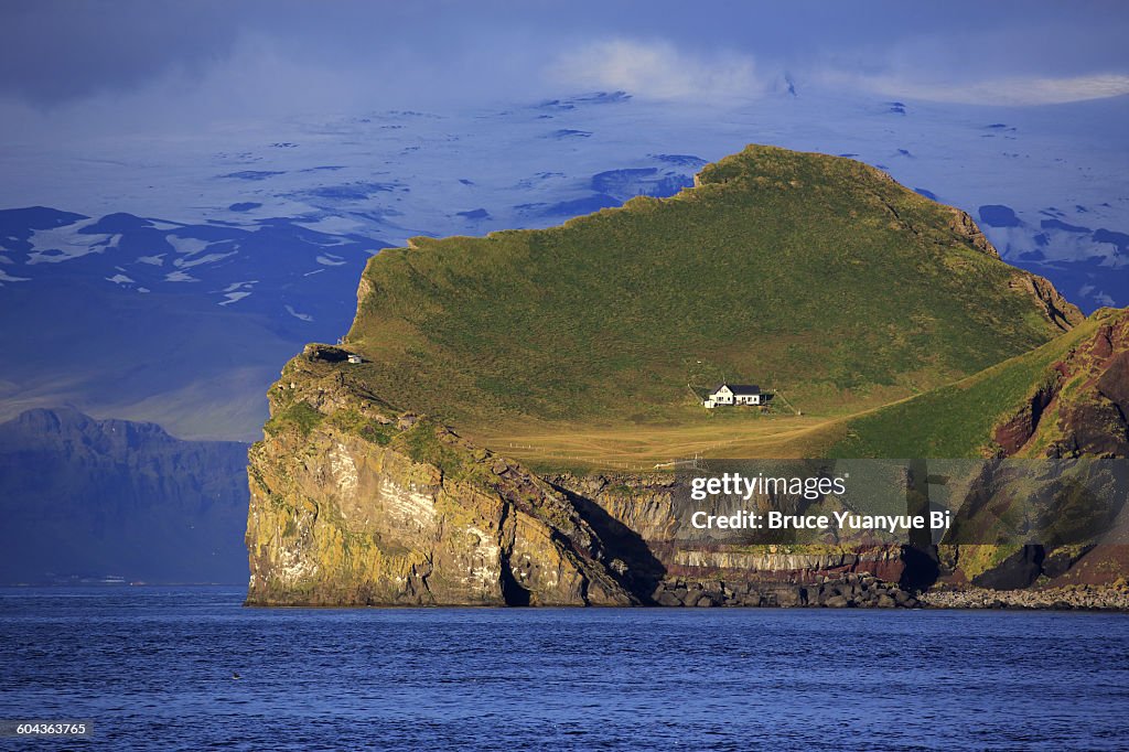
[[[852,411],[1080,318],[971,220],[860,163],[749,147],[698,186],[544,230],[415,238],[365,271],[371,390],[456,427],[706,420],[688,383]]]

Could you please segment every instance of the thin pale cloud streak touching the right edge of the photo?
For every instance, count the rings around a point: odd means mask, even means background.
[[[1009,77],[979,81],[927,81],[899,76],[829,73],[828,82],[855,86],[894,98],[951,104],[1050,105],[1129,94],[1129,76],[1096,73],[1068,78]]]

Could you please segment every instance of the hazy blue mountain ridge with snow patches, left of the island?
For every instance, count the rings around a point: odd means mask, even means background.
[[[299,220],[244,227],[0,211],[0,419],[78,404],[202,438],[257,435],[285,358],[349,321],[386,245]]]

